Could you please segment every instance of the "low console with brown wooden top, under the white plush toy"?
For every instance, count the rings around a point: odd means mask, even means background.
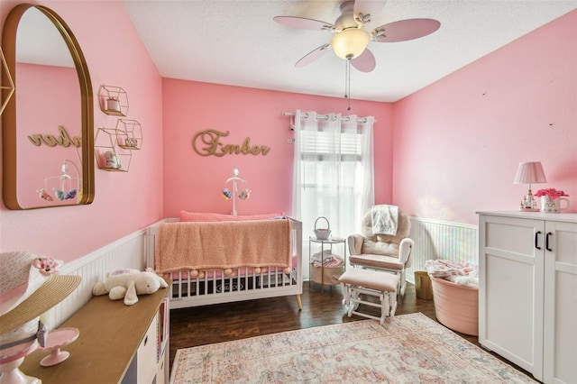
[[[169,290],[160,288],[152,295],[139,296],[138,303],[133,306],[125,306],[123,300],[113,301],[108,295],[93,297],[60,325],[60,328],[75,327],[80,331],[74,343],[62,348],[70,352],[68,359],[51,367],[42,367],[40,361],[49,352],[33,352],[26,356],[20,370],[25,375],[41,379],[42,384],[133,381],[126,379],[125,375]],[[168,311],[167,308],[167,314]],[[165,322],[168,326],[168,315]],[[169,356],[168,329],[166,334],[164,356],[160,360],[168,360]],[[150,342],[156,344],[157,340]],[[168,363],[164,369],[169,369]],[[164,379],[157,378],[156,382],[164,382]]]

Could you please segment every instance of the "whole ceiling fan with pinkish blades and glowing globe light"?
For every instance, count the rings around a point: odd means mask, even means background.
[[[365,25],[380,14],[386,2],[387,0],[345,1],[341,5],[341,15],[334,24],[298,16],[275,16],[273,20],[293,28],[334,33],[330,43],[308,52],[297,61],[295,67],[306,66],[325,55],[327,50],[333,49],[338,57],[349,60],[355,69],[371,72],[375,69],[376,61],[371,50],[367,48],[369,41],[414,40],[435,32],[441,26],[441,23],[433,19],[408,19],[381,25],[370,32],[365,31]]]

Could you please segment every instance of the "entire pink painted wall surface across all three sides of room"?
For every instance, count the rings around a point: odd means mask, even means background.
[[[2,23],[16,4],[0,3]],[[221,190],[234,166],[252,189],[239,214],[289,213],[293,147],[282,112],[347,114],[339,98],[161,79],[119,1],[38,4],[69,23],[95,96],[100,85],[128,93],[127,118],[142,124],[143,146],[127,173],[96,169],[92,205],[0,206],[0,251],[71,261],[180,209],[228,213],[231,202]],[[526,192],[512,184],[517,163],[541,160],[549,182],[534,190],[564,189],[576,212],[576,40],[572,12],[395,105],[353,101],[353,114],[377,118],[376,202],[398,204],[409,215],[476,223],[477,210],[517,209]],[[96,97],[94,106],[95,130],[114,127],[116,118],[100,112]],[[201,157],[191,140],[206,129],[230,131],[224,143],[250,137],[270,153]]]

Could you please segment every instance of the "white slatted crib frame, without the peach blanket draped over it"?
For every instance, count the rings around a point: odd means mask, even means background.
[[[168,218],[152,224],[146,231],[147,265],[155,270],[155,251],[159,242],[160,224],[177,223],[179,218]],[[237,267],[228,270],[194,271],[172,270],[164,277],[172,280],[170,309],[206,306],[265,297],[295,295],[302,309],[302,223],[290,222],[289,268],[279,266]]]

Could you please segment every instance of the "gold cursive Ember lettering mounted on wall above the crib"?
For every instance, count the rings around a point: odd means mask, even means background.
[[[226,137],[230,131],[220,132],[214,129],[207,129],[196,133],[192,138],[192,148],[200,156],[216,156],[223,157],[224,155],[262,155],[266,156],[270,151],[270,147],[266,145],[251,145],[251,138],[244,139],[243,144],[223,144],[220,142],[221,137]],[[202,145],[205,146],[202,146]]]

